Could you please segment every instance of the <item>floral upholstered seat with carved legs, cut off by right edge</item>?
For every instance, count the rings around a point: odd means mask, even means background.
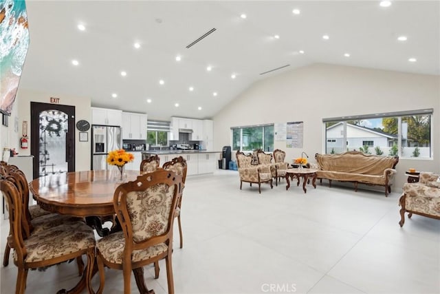
[[[405,183],[404,193],[399,199],[400,227],[405,223],[405,213],[408,218],[412,213],[440,220],[440,175],[420,173],[419,182]]]

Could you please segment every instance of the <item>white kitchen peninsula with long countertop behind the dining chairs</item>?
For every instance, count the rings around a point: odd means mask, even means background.
[[[220,159],[221,151],[207,150],[148,150],[142,151],[142,158],[149,158],[157,155],[160,158],[160,165],[172,160],[175,157],[183,157],[188,164],[187,176],[198,174],[212,174],[217,167],[217,160]]]

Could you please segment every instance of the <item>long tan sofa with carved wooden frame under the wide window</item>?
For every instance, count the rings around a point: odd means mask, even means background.
[[[318,171],[322,179],[353,182],[355,191],[358,183],[380,185],[385,187],[385,196],[391,193],[391,185],[396,174],[395,167],[399,162],[397,156],[367,155],[360,151],[347,151],[342,154],[316,154]]]

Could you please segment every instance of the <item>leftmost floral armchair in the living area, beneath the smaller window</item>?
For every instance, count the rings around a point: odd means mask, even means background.
[[[267,182],[272,189],[272,173],[269,165],[252,165],[252,155],[245,155],[241,151],[236,152],[236,164],[239,170],[240,176],[240,190],[243,182],[249,182],[252,187],[252,183],[259,185],[259,193],[261,193],[261,183]]]

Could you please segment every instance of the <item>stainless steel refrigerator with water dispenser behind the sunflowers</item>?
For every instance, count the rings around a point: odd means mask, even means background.
[[[91,169],[109,169],[107,154],[122,148],[120,127],[92,125],[91,127]]]

